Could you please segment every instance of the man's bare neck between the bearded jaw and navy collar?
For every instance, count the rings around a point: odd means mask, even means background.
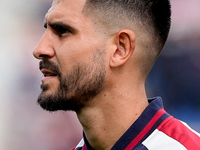
[[[143,86],[134,87],[135,92],[133,87],[127,87],[129,91],[121,87],[102,92],[77,112],[85,136],[95,150],[110,150],[148,105]]]

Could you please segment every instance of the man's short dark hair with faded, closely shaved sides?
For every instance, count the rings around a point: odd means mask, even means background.
[[[137,30],[136,40],[137,37],[143,40],[145,47],[144,71],[150,71],[169,34],[169,0],[86,0],[83,12],[97,20],[96,24],[102,26],[105,33],[114,34],[125,28]]]

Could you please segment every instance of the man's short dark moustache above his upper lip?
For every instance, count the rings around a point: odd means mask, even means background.
[[[60,71],[59,66],[55,62],[50,61],[48,59],[44,59],[44,60],[40,61],[40,63],[39,63],[39,69],[40,70],[42,70],[42,69],[48,69],[48,70],[51,70],[54,73],[56,73],[58,76],[61,75],[61,71]]]

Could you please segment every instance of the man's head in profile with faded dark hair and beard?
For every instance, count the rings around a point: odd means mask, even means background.
[[[39,104],[78,111],[105,92],[113,68],[126,64],[145,80],[167,39],[170,14],[168,0],[55,0],[34,50],[45,76]]]

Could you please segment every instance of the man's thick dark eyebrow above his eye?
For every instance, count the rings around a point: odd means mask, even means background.
[[[74,27],[72,27],[71,25],[63,23],[63,22],[60,22],[60,21],[59,22],[48,22],[48,23],[45,22],[44,23],[44,27],[45,28],[47,28],[47,24],[53,29],[55,29],[55,28],[65,28],[65,29],[70,30],[73,33],[78,32],[78,30],[75,29]]]

